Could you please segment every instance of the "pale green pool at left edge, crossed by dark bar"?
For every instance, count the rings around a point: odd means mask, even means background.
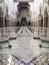
[[[0,53],[8,53],[10,51],[10,42],[0,43]]]

